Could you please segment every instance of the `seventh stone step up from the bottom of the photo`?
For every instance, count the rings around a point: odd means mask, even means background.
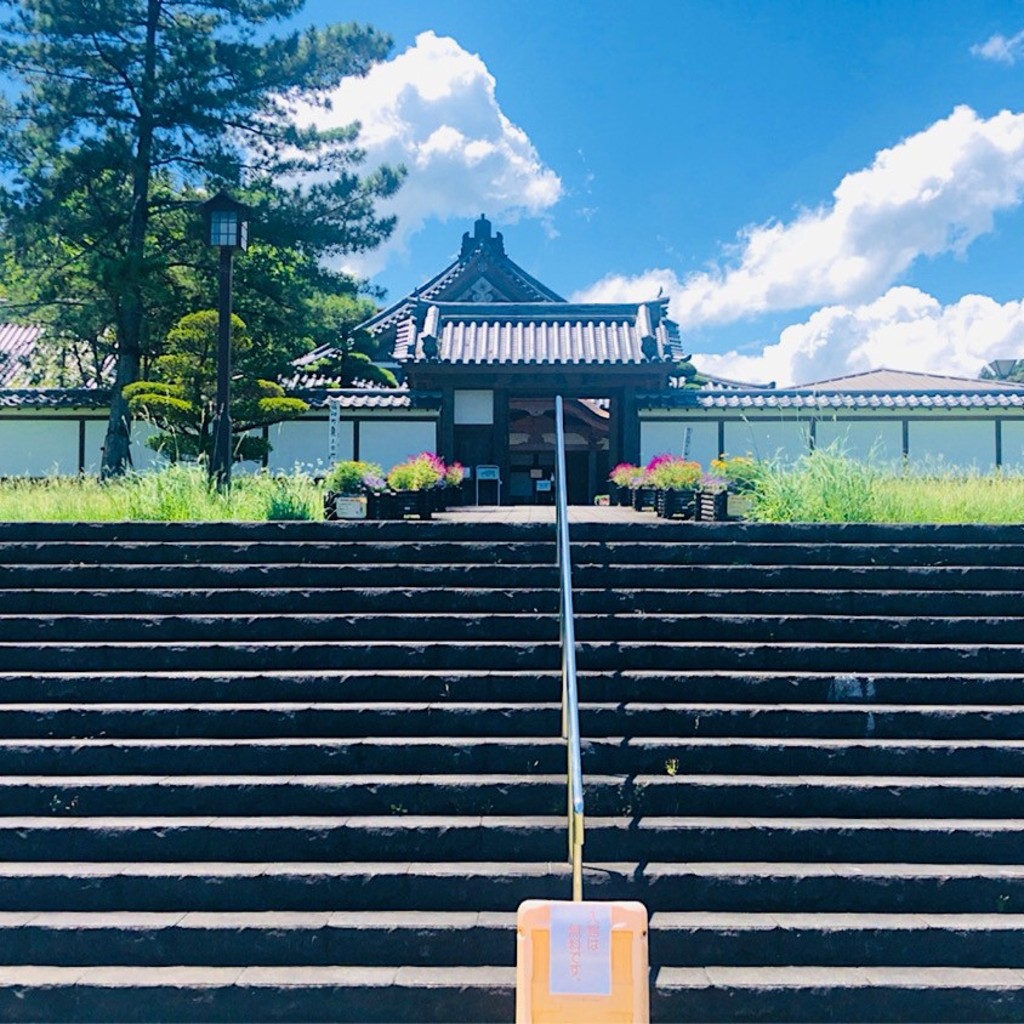
[[[37,703],[0,706],[6,738],[554,736],[560,706],[482,702]],[[584,703],[600,736],[1016,739],[1024,708],[955,705]]]

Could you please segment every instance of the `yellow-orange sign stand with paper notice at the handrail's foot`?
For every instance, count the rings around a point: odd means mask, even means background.
[[[526,900],[516,921],[516,1024],[648,1024],[643,903]]]

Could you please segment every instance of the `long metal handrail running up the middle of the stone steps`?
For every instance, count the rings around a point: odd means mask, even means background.
[[[569,862],[572,899],[583,899],[583,757],[580,752],[580,697],[575,670],[575,626],[572,612],[572,559],[569,548],[569,510],[565,495],[565,425],[562,396],[555,397],[555,529],[558,547],[559,638],[562,646],[562,738],[568,755]]]

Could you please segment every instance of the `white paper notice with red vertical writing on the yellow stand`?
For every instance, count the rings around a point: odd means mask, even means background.
[[[611,907],[555,903],[551,907],[552,995],[611,994]]]

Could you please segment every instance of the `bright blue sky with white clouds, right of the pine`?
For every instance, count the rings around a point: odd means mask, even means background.
[[[309,0],[393,57],[345,83],[401,160],[397,297],[485,212],[569,297],[662,288],[698,365],[804,382],[1024,356],[1024,6]]]

